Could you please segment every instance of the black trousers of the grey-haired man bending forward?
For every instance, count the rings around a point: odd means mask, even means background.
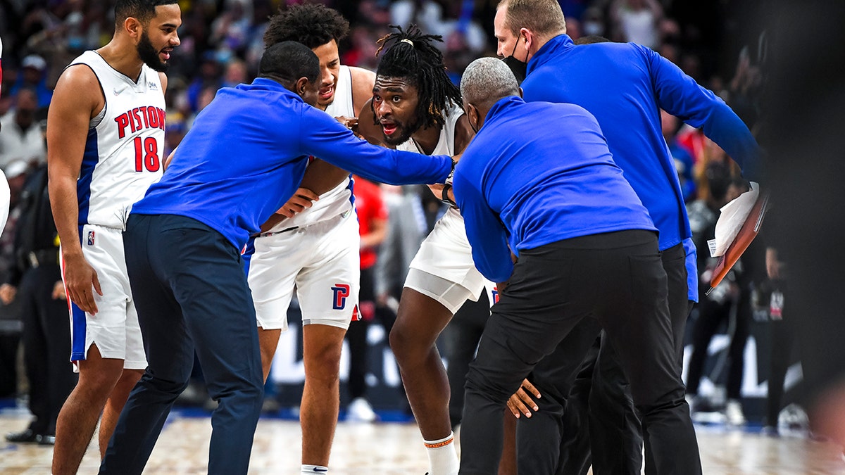
[[[462,475],[497,471],[505,402],[585,318],[619,352],[657,473],[701,473],[657,237],[624,231],[521,252],[467,375]]]

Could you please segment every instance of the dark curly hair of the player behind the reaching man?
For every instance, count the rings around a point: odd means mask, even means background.
[[[349,33],[349,22],[332,8],[319,3],[303,3],[280,8],[270,17],[264,32],[264,46],[281,41],[297,41],[313,49],[335,40],[341,41]]]

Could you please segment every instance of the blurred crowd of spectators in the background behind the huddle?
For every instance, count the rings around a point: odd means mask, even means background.
[[[179,2],[182,44],[173,52],[167,72],[165,156],[179,144],[194,117],[218,89],[254,79],[264,50],[268,17],[292,3],[299,2]],[[350,33],[340,44],[341,63],[349,66],[376,68],[376,41],[390,32],[389,25],[417,24],[426,33],[441,35],[444,60],[455,83],[473,59],[496,54],[493,16],[497,0],[326,0],[321,3],[338,9],[350,20]],[[649,46],[721,96],[752,131],[759,128],[766,41],[765,36],[751,36],[744,30],[740,20],[745,12],[741,5],[682,0],[561,0],[560,3],[568,34],[573,39],[602,35],[611,41]],[[46,162],[43,134],[52,88],[74,57],[104,45],[112,37],[112,7],[112,3],[100,0],[0,0],[0,36],[4,46],[0,168],[12,189],[12,213],[6,231],[0,236],[0,283],[8,283],[15,268],[27,265],[21,259],[20,249],[15,248],[15,225],[22,212],[20,197],[25,181]],[[690,205],[690,221],[699,243],[700,272],[706,275],[708,266],[712,265],[706,259],[706,239],[712,238],[707,233],[711,232],[719,206],[735,196],[744,183],[734,183],[739,170],[701,131],[665,112],[662,124],[678,167],[684,198]],[[733,184],[739,188],[732,188]],[[380,193],[378,204],[384,207],[384,213],[370,214],[387,217],[383,223],[371,226],[380,233],[370,240],[373,245],[368,250],[375,253],[376,259],[376,302],[375,310],[368,311],[369,316],[365,317],[389,330],[389,316],[382,319],[372,315],[390,315],[391,308],[395,308],[407,264],[416,252],[413,243],[418,245],[443,208],[424,187],[382,187]],[[410,223],[401,222],[409,216],[413,216]],[[762,250],[757,255],[762,256]],[[762,308],[762,318],[768,318],[771,285],[767,291],[760,291],[766,281],[763,258],[749,259],[726,280],[726,287],[715,292],[712,304],[702,303],[693,316],[697,320],[703,312],[717,312],[719,321],[724,320],[722,326],[724,322],[733,322],[727,328],[733,329],[735,339],[741,340],[741,345],[738,342],[731,346],[734,363],[737,358],[743,359],[744,341],[749,334],[747,325],[744,333],[736,331],[742,324],[735,322],[751,321],[754,308]],[[21,316],[14,296],[8,298],[8,294],[0,292],[0,300],[3,305],[0,307],[0,380],[3,381],[0,397],[8,397],[25,393],[17,384],[22,378],[14,372]],[[695,320],[689,325],[690,341],[695,341],[699,351],[698,362],[706,357],[707,342],[718,325],[708,323],[706,329],[696,330],[692,323]],[[708,330],[710,327],[712,331]],[[444,352],[446,358],[449,354],[448,350]],[[741,363],[738,364],[741,379]],[[695,371],[698,378],[703,370]],[[736,371],[733,369],[734,374]],[[736,378],[734,375],[733,379]],[[729,389],[728,399],[739,398],[737,391]],[[395,391],[394,396],[401,399],[401,392]],[[744,418],[736,417],[734,421],[739,423]]]

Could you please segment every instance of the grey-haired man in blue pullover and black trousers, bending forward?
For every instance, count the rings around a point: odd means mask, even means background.
[[[466,68],[461,95],[477,134],[455,167],[455,201],[478,270],[508,282],[467,374],[461,475],[497,472],[505,402],[585,318],[607,330],[630,374],[657,472],[701,473],[656,228],[596,119],[526,103],[493,58]]]

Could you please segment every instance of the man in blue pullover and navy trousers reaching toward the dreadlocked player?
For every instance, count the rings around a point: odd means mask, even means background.
[[[255,310],[241,249],[302,181],[308,156],[386,183],[442,183],[449,156],[369,145],[314,108],[319,60],[270,46],[252,84],[199,114],[161,181],[134,205],[123,242],[148,367],[129,396],[101,473],[142,472],[188,385],[194,351],[209,394],[208,472],[246,473],[264,396]]]

